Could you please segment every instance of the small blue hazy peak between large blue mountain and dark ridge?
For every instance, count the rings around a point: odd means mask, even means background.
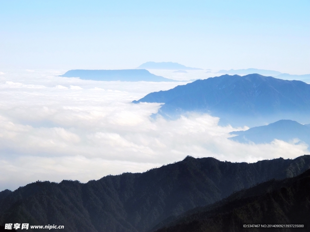
[[[252,141],[256,144],[270,143],[274,139],[289,142],[295,138],[310,145],[310,124],[300,124],[292,120],[279,120],[266,126],[252,127],[246,131],[232,131],[231,140],[240,143]]]

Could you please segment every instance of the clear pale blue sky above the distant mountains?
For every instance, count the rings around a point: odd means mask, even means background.
[[[310,1],[0,1],[0,68],[310,73]]]

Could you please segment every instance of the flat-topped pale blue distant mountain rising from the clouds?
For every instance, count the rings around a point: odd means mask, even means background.
[[[62,77],[79,77],[83,80],[101,80],[101,81],[153,81],[170,82],[177,81],[162,76],[157,76],[145,69],[121,69],[121,70],[69,70]]]

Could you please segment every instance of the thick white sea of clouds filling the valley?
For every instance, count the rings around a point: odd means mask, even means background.
[[[143,172],[193,157],[255,162],[309,153],[297,140],[241,144],[219,118],[188,114],[174,121],[150,115],[160,104],[146,94],[186,82],[120,82],[65,78],[57,71],[0,72],[0,191],[37,180],[87,182]]]

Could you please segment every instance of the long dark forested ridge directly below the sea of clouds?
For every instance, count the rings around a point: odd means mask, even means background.
[[[310,168],[310,155],[256,163],[186,157],[149,170],[88,183],[35,182],[0,192],[0,225],[64,225],[62,231],[148,231],[170,216],[213,204],[234,191]],[[29,231],[31,231],[29,229]]]

